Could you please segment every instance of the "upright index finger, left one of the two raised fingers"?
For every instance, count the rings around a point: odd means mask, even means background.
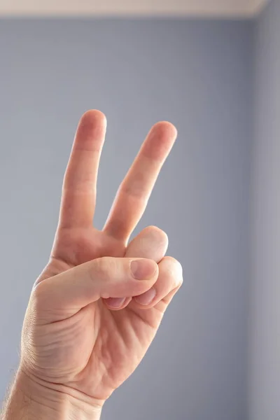
[[[92,225],[97,172],[105,133],[106,117],[101,111],[90,110],[80,118],[64,175],[60,228]]]

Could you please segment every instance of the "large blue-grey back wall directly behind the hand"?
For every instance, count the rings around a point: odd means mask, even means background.
[[[247,418],[252,29],[214,20],[0,22],[1,395],[48,260],[76,123],[97,108],[109,121],[100,228],[151,125],[178,127],[137,231],[164,229],[185,272],[151,350],[103,419]]]

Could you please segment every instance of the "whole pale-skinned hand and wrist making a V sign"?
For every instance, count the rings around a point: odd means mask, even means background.
[[[5,420],[99,419],[104,402],[141,362],[183,282],[180,263],[165,256],[165,232],[150,226],[130,241],[176,128],[166,121],[151,128],[97,230],[92,220],[105,133],[102,112],[80,119],[50,260],[25,315]],[[140,280],[133,260],[142,262]]]

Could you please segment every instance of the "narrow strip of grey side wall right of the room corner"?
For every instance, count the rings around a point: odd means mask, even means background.
[[[255,26],[250,418],[280,416],[280,2]]]

